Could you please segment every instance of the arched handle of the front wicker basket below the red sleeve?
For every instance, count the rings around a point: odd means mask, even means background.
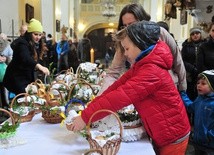
[[[121,123],[121,121],[120,121],[120,118],[118,117],[118,115],[117,115],[115,112],[113,112],[113,111],[111,111],[111,110],[108,110],[108,109],[101,109],[101,110],[98,110],[98,111],[96,111],[95,113],[93,113],[93,114],[91,115],[91,117],[90,117],[90,119],[89,119],[89,121],[88,121],[88,124],[87,124],[87,126],[86,126],[86,131],[87,131],[88,136],[91,137],[90,126],[91,126],[93,117],[94,117],[96,114],[101,113],[101,112],[108,112],[108,113],[113,114],[113,115],[116,117],[116,119],[117,119],[117,121],[118,121],[118,123],[119,123],[119,126],[120,126],[120,138],[122,138],[122,132],[123,132],[122,130],[123,130],[123,127],[122,127],[122,123]]]

